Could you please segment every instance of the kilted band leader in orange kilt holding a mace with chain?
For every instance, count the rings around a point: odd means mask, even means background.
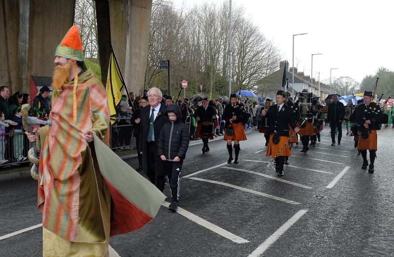
[[[263,117],[268,117],[269,143],[265,155],[275,158],[275,170],[278,177],[282,177],[284,175],[285,157],[292,155],[287,142],[289,140],[289,125],[296,133],[299,132],[293,111],[285,104],[285,92],[283,90],[276,93],[276,105],[271,106],[268,111],[263,110],[262,114]]]

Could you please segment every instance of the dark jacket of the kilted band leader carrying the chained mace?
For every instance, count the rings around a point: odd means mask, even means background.
[[[268,134],[273,134],[276,131],[280,136],[289,136],[289,125],[292,129],[296,128],[296,118],[293,110],[286,104],[278,113],[278,105],[270,106],[265,113],[268,118]]]

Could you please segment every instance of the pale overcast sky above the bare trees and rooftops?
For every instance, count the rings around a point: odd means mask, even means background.
[[[172,0],[176,8],[223,0]],[[228,0],[227,0],[228,1]],[[361,82],[379,67],[394,70],[394,0],[232,0],[232,8],[243,6],[280,55],[292,66],[293,34],[295,67],[313,77],[329,81],[350,76]],[[292,18],[293,17],[293,18]],[[292,25],[293,24],[293,25]],[[298,61],[298,66],[296,62]]]

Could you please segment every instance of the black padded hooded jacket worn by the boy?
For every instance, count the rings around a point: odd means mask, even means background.
[[[189,147],[189,128],[182,123],[181,110],[177,105],[168,106],[165,115],[168,115],[168,112],[176,114],[176,121],[164,124],[160,131],[158,155],[164,155],[167,160],[176,156],[183,160]]]

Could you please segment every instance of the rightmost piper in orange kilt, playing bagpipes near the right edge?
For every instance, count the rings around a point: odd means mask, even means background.
[[[368,172],[374,172],[374,161],[376,158],[376,150],[378,149],[378,134],[380,129],[380,120],[383,118],[383,113],[378,104],[373,103],[373,94],[371,91],[364,92],[364,103],[358,106],[356,110],[356,122],[359,125],[359,143],[357,148],[361,152],[362,166],[365,170],[368,166],[366,158],[366,150],[369,150],[369,167]]]

